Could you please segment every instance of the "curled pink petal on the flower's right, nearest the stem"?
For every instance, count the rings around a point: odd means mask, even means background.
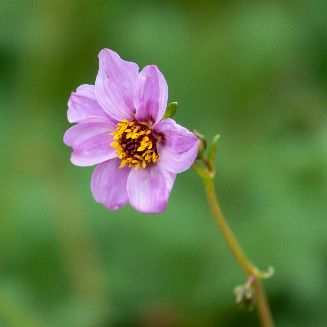
[[[161,137],[157,151],[167,170],[181,173],[190,168],[198,154],[198,139],[192,132],[167,118],[156,124],[152,133]]]

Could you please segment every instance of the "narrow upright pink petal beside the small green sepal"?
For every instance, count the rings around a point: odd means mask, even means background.
[[[167,99],[167,82],[158,67],[155,65],[144,67],[137,80],[134,94],[135,118],[146,123],[159,122],[166,110]]]

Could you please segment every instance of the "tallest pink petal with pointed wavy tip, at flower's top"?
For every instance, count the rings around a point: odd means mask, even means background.
[[[95,80],[96,98],[105,112],[119,121],[132,120],[135,113],[133,95],[139,67],[120,59],[109,49],[99,53],[99,72]]]

